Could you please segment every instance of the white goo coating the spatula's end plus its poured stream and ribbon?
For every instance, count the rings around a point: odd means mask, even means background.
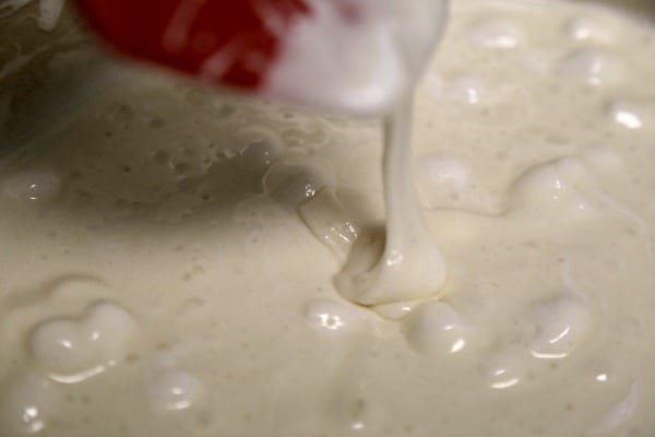
[[[386,118],[384,250],[373,267],[361,264],[359,255],[354,255],[356,261],[335,277],[336,287],[364,305],[436,295],[445,274],[412,184],[409,95],[442,33],[445,2],[312,0],[309,4],[311,14],[298,19],[285,39],[283,57],[269,79],[269,94],[350,114],[385,114]],[[319,200],[312,200],[323,184],[308,175],[298,165],[275,164],[264,178],[265,191],[293,199],[295,205],[310,201],[299,210],[301,218],[343,258],[357,237],[357,226],[333,192],[324,190]],[[327,215],[319,218],[321,213]]]

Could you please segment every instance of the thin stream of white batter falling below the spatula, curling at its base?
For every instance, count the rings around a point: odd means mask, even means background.
[[[383,252],[371,265],[374,246],[354,247],[335,277],[337,290],[362,305],[380,305],[437,295],[445,279],[439,248],[424,223],[412,178],[412,99],[395,108],[384,131],[384,201],[386,235]],[[379,243],[378,243],[379,245]],[[369,251],[368,257],[356,253]],[[368,258],[368,259],[367,259]]]

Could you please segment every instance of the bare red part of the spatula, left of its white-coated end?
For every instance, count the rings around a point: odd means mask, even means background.
[[[118,50],[213,83],[255,91],[303,0],[78,0]]]

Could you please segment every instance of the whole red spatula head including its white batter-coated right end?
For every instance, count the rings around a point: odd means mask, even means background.
[[[444,15],[444,0],[76,3],[103,39],[138,59],[219,85],[360,114],[391,105],[416,68],[405,51],[429,52]]]

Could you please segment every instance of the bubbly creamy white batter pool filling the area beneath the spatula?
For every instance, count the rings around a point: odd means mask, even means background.
[[[380,246],[377,122],[78,39],[0,83],[0,435],[655,432],[652,25],[454,2],[414,131],[448,276],[401,303],[333,284]]]

